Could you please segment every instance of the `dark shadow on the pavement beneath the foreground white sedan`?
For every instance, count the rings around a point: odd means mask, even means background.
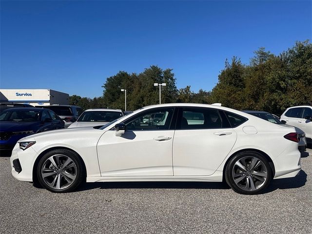
[[[272,180],[261,194],[277,189],[300,188],[306,182],[307,174],[301,170],[295,177]],[[85,183],[76,191],[92,189],[230,189],[230,187],[225,182],[95,182]]]

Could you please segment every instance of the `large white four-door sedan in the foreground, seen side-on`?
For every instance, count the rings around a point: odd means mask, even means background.
[[[162,116],[144,124],[146,115]],[[161,115],[162,114],[162,115]],[[301,169],[292,126],[230,108],[172,103],[141,108],[101,128],[73,128],[22,138],[12,175],[52,192],[84,181],[225,181],[257,194],[271,179]]]

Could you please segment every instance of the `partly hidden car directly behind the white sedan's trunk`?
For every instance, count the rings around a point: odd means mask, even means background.
[[[275,116],[273,116],[272,114],[270,114],[269,112],[265,112],[265,111],[243,111],[247,114],[262,118],[264,120],[267,120],[271,123],[275,123],[275,124],[281,124],[283,125],[283,123],[276,118]],[[299,142],[298,142],[298,150],[303,152],[307,149],[307,139],[306,139],[306,134],[305,132],[303,132],[300,128],[295,127],[296,133],[298,134],[299,137]]]

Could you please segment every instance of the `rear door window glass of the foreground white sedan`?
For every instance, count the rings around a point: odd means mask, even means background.
[[[222,128],[218,110],[183,108],[181,129]]]

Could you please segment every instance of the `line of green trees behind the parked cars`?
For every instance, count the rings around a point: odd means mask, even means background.
[[[200,89],[195,93],[190,85],[177,89],[173,69],[163,70],[152,65],[139,74],[120,71],[106,79],[103,96],[91,99],[73,95],[70,104],[84,109],[124,110],[124,93],[120,89],[126,89],[127,110],[136,110],[159,103],[159,89],[154,83],[167,84],[161,87],[161,103],[220,102],[237,110],[261,110],[280,115],[290,106],[312,105],[312,44],[309,40],[297,41],[279,55],[260,47],[249,64],[243,64],[237,57],[231,61],[226,59],[211,91]]]

